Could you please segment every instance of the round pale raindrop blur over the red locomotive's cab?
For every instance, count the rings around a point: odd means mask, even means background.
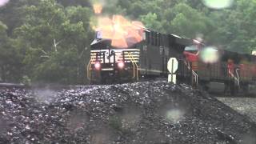
[[[218,62],[219,54],[217,48],[214,46],[204,48],[200,53],[200,58],[202,62],[206,63]]]

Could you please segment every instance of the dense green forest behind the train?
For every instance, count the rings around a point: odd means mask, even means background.
[[[1,0],[0,0],[1,1]],[[206,0],[205,0],[206,1]],[[4,0],[0,5],[0,82],[86,83],[96,0]],[[213,9],[202,0],[98,0],[150,29],[240,53],[256,49],[256,0]]]

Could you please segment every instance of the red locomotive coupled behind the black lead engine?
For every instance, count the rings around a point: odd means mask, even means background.
[[[212,52],[203,54],[207,49],[212,49]],[[225,84],[224,93],[235,94],[238,90],[247,93],[249,85],[255,84],[255,55],[238,54],[213,47],[188,47],[183,54],[191,66],[196,66],[194,70],[198,74],[198,84],[206,89],[210,82],[222,82]]]

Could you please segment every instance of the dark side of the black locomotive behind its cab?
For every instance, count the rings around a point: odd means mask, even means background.
[[[146,40],[141,46],[141,74],[167,76],[167,62],[170,58],[183,59],[182,52],[192,41],[177,35],[159,34],[154,31],[146,32]],[[180,67],[180,66],[179,66]],[[179,75],[186,69],[178,68]],[[181,70],[180,70],[181,69]],[[187,70],[186,70],[187,71]],[[187,73],[186,73],[187,74]]]

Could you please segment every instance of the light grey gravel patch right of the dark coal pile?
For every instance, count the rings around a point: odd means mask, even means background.
[[[256,98],[218,98],[218,100],[256,122]]]

